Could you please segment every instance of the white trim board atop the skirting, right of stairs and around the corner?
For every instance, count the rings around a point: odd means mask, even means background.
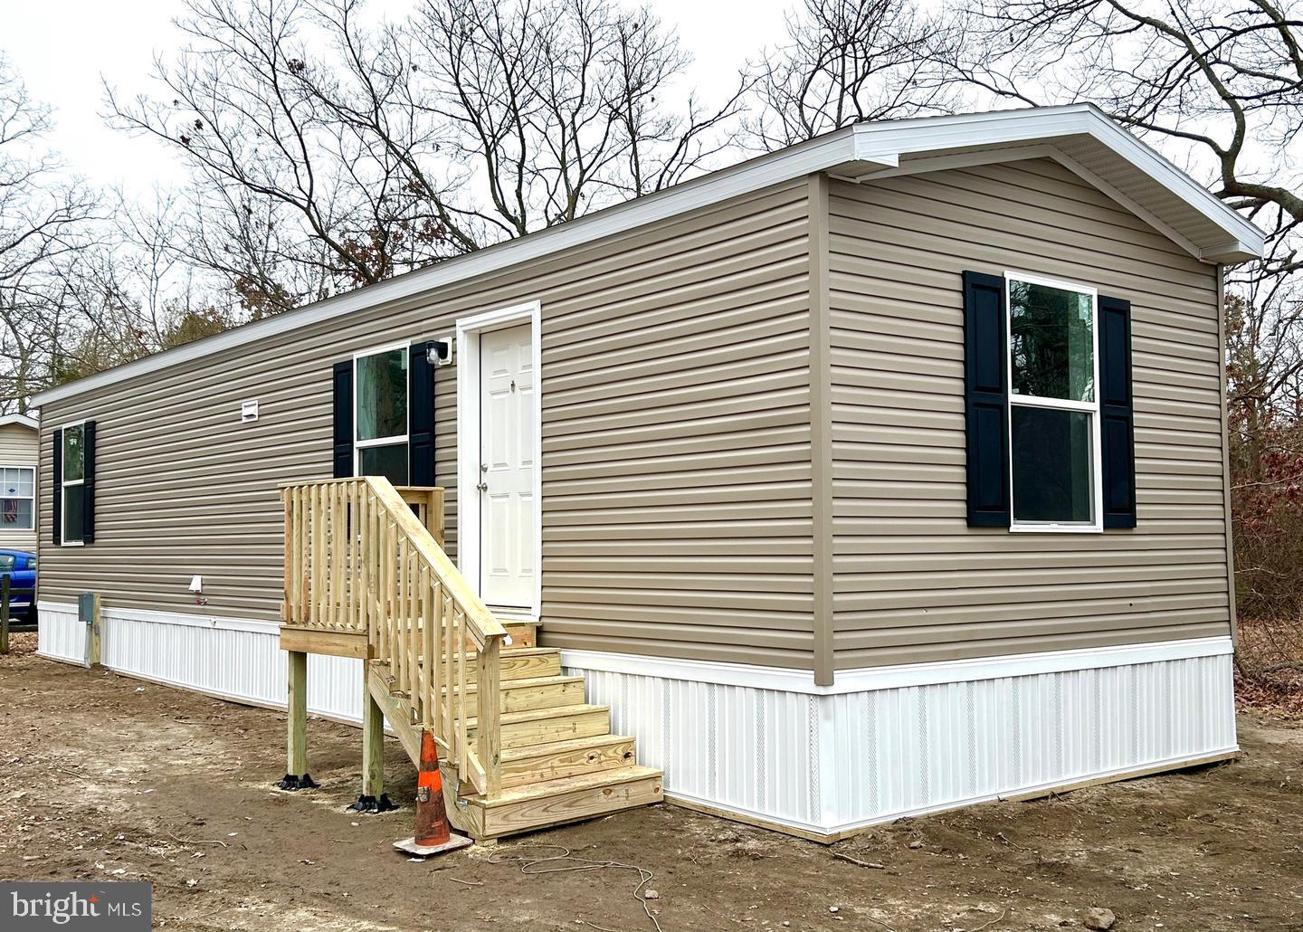
[[[1108,648],[1080,648],[1049,650],[1044,653],[1006,654],[1003,657],[976,657],[972,660],[937,661],[932,663],[898,663],[870,666],[857,670],[838,670],[831,686],[818,686],[809,670],[753,666],[749,663],[711,663],[697,660],[668,657],[642,657],[638,654],[606,653],[601,650],[562,650],[562,666],[577,670],[658,677],[661,679],[689,680],[739,686],[775,692],[797,692],[812,696],[839,696],[876,690],[899,690],[938,683],[968,683],[1005,677],[1035,677],[1068,670],[1095,670],[1108,666],[1154,663],[1192,657],[1231,654],[1235,647],[1229,636],[1192,637],[1179,641],[1152,644],[1122,644]]]

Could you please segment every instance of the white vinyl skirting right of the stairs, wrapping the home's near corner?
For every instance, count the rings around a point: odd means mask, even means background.
[[[681,662],[563,662],[665,770],[667,796],[835,836],[1234,752],[1231,650],[1217,637],[920,663],[800,692],[766,688],[780,679],[767,671],[747,686],[687,679]]]

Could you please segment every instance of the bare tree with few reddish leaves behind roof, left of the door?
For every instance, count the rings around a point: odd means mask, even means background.
[[[162,98],[126,103],[108,90],[107,103],[117,125],[171,142],[193,168],[192,254],[218,259],[232,284],[274,276],[262,291],[284,295],[285,306],[318,297],[313,282],[328,289],[391,275],[397,180],[308,86],[308,50],[322,39],[314,8],[197,0],[179,26],[192,44],[156,61]],[[235,210],[214,224],[214,207]]]

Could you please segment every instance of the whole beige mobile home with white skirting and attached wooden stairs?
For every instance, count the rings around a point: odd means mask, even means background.
[[[1091,106],[848,126],[43,392],[40,649],[433,730],[481,837],[1222,759],[1261,249]]]

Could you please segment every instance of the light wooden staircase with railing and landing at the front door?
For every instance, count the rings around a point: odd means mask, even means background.
[[[584,678],[536,647],[533,623],[502,623],[480,602],[443,553],[442,515],[413,515],[413,497],[440,501],[431,491],[442,490],[374,477],[284,490],[281,641],[364,657],[364,796],[383,783],[383,716],[413,763],[422,730],[434,734],[448,816],[476,839],[659,802],[661,772],[638,765],[633,738],[611,734]]]

